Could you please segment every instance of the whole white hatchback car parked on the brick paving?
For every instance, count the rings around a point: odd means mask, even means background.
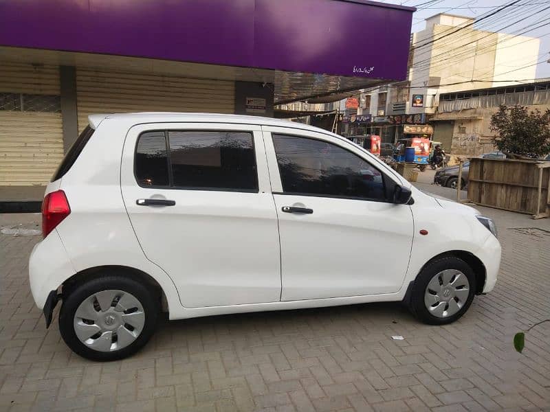
[[[494,287],[475,209],[347,139],[263,117],[91,115],[43,201],[30,286],[74,352],[123,358],[170,319],[404,301],[450,323]]]

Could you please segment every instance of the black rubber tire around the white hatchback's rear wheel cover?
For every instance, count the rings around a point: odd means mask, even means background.
[[[130,293],[140,302],[145,314],[144,327],[140,335],[135,338],[135,341],[120,350],[113,350],[112,352],[100,352],[87,347],[78,339],[74,330],[74,316],[78,306],[85,299],[102,290],[122,290]],[[153,332],[155,332],[159,311],[159,299],[151,293],[150,287],[130,277],[102,275],[75,284],[67,291],[63,290],[63,305],[59,312],[59,331],[67,346],[83,358],[91,361],[115,361],[131,356],[151,339]]]

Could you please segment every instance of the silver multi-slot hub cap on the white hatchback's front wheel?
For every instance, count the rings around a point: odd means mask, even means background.
[[[426,286],[424,304],[435,317],[450,317],[466,303],[470,295],[470,282],[464,273],[446,269],[437,273]]]

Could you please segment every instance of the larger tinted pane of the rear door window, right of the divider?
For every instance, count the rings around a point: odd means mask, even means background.
[[[252,133],[170,131],[168,136],[174,186],[258,190]]]

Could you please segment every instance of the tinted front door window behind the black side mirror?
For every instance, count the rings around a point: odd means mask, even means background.
[[[273,134],[285,193],[386,201],[384,175],[326,141]]]

